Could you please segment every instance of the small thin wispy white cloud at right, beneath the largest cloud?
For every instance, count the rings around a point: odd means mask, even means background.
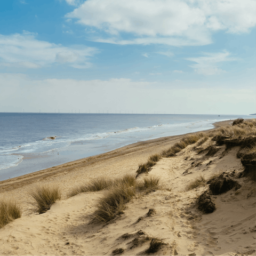
[[[202,57],[187,58],[187,60],[196,62],[196,64],[190,65],[190,67],[194,68],[198,74],[219,75],[221,73],[226,73],[225,70],[218,67],[219,63],[236,60],[229,56],[229,52],[223,51],[217,53],[204,53],[204,56]]]

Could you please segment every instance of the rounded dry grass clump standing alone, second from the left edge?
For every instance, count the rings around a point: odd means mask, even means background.
[[[37,185],[29,192],[34,199],[29,204],[32,206],[30,213],[42,214],[50,210],[55,201],[60,200],[61,193],[57,185]]]

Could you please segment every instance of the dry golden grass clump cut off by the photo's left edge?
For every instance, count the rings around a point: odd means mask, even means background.
[[[21,217],[20,206],[12,200],[1,199],[0,201],[0,228],[7,223]]]

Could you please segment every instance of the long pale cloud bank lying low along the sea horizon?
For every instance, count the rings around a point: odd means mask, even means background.
[[[165,84],[127,78],[38,80],[21,74],[0,74],[0,90],[3,92],[0,94],[0,111],[41,109],[42,112],[54,112],[54,109],[60,109],[60,112],[68,113],[71,109],[81,109],[81,113],[86,110],[115,113],[117,110],[121,113],[250,114],[255,109],[253,88],[230,89],[225,84],[184,87],[179,83],[177,86],[175,82]]]

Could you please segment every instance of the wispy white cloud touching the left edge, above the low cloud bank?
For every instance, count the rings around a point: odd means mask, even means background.
[[[36,34],[23,31],[23,34],[0,35],[0,63],[6,67],[39,68],[54,62],[66,63],[75,67],[88,66],[87,57],[97,49],[81,45],[70,47],[39,41]]]

